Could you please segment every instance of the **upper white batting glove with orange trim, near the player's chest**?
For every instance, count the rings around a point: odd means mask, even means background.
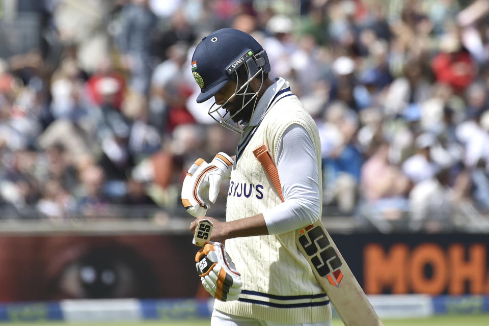
[[[182,186],[182,203],[189,214],[205,215],[210,203],[218,198],[223,180],[230,178],[233,164],[234,160],[223,152],[216,154],[210,163],[202,158],[194,162]]]

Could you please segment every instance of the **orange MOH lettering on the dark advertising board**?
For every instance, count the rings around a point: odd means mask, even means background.
[[[425,242],[414,248],[395,243],[388,249],[369,243],[363,250],[367,293],[489,293],[487,248],[483,243]]]

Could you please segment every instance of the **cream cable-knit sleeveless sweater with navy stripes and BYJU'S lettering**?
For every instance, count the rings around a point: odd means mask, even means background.
[[[316,124],[285,83],[261,123],[250,126],[241,135],[228,191],[227,221],[253,216],[281,203],[253,150],[265,144],[275,162],[282,134],[293,124],[302,126],[310,135],[316,149],[318,175],[321,175]],[[238,301],[216,300],[216,310],[277,323],[331,319],[329,298],[298,250],[295,231],[228,239],[226,250],[241,273],[243,290]]]

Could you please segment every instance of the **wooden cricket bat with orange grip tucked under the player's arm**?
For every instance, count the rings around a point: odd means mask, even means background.
[[[277,167],[266,146],[257,147],[253,154],[284,201]],[[295,243],[346,326],[384,325],[321,220],[296,230]]]

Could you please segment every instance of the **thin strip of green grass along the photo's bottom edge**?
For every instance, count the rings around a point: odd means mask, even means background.
[[[65,323],[65,322],[36,322],[36,323],[0,323],[2,325],[15,326],[208,326],[209,320],[192,321],[144,321],[144,322],[90,322],[90,323]],[[333,326],[342,326],[339,319],[333,319]],[[385,326],[489,326],[489,314],[487,315],[445,315],[430,318],[412,319],[386,319]]]

